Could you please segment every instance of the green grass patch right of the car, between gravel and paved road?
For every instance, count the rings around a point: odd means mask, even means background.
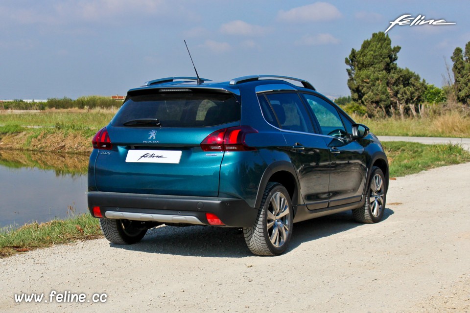
[[[470,162],[470,152],[459,145],[425,145],[417,142],[382,142],[390,177],[419,173],[430,168]]]

